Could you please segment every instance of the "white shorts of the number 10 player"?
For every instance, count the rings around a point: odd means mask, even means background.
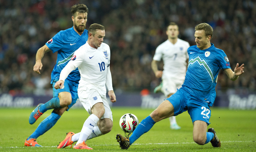
[[[101,97],[97,90],[78,90],[78,97],[80,102],[83,104],[83,107],[91,115],[91,108],[96,103],[103,103],[105,108],[105,113],[100,119],[109,118],[113,121],[112,112],[109,107],[107,98]]]

